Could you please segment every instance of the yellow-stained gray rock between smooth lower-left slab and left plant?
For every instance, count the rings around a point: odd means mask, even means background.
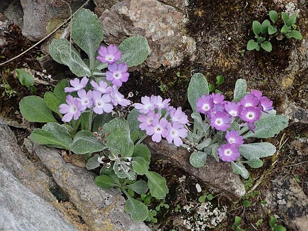
[[[124,198],[115,190],[104,190],[94,183],[94,174],[65,163],[61,155],[47,147],[33,144],[33,153],[51,172],[55,182],[69,195],[87,225],[95,231],[150,230],[144,223],[134,223],[124,211]]]

